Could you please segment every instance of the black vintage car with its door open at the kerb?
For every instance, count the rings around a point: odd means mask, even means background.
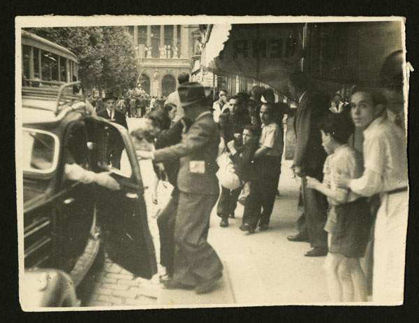
[[[140,166],[128,131],[96,117],[89,102],[73,94],[74,85],[22,87],[21,299],[27,307],[74,305],[66,294],[74,294],[102,243],[112,261],[135,275],[149,279],[157,271]],[[106,163],[111,131],[125,145],[121,170]],[[72,163],[110,172],[120,189],[68,180],[64,168]],[[71,293],[63,295],[62,285]]]

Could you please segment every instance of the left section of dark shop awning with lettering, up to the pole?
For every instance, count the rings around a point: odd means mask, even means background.
[[[287,92],[288,76],[301,69],[304,24],[233,24],[227,41],[222,37],[228,29],[220,32],[219,26],[212,27],[201,64],[213,73],[254,78]]]

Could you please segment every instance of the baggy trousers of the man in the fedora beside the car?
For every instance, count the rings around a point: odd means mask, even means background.
[[[218,194],[179,193],[175,223],[175,272],[173,280],[196,286],[219,276],[223,264],[207,242],[210,214]]]

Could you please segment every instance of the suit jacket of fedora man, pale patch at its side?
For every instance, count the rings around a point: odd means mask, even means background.
[[[154,161],[179,161],[177,186],[191,194],[219,194],[216,178],[216,157],[220,142],[219,130],[211,113],[198,116],[182,141],[154,152]]]

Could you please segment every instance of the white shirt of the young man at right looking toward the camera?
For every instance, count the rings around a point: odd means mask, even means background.
[[[362,196],[407,186],[407,151],[403,130],[385,117],[378,117],[364,130],[362,177],[350,188]]]

